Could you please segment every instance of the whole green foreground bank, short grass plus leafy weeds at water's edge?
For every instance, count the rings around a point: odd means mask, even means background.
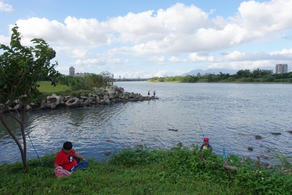
[[[229,156],[237,171],[222,168],[222,158],[204,153],[205,162],[191,150],[148,150],[126,148],[109,160],[89,165],[71,177],[56,178],[55,154],[43,156],[44,167],[37,159],[28,161],[24,173],[20,162],[0,166],[1,195],[74,194],[74,195],[249,195],[291,194],[292,177],[278,170],[256,169],[253,162],[240,163]],[[263,178],[263,179],[262,179]]]

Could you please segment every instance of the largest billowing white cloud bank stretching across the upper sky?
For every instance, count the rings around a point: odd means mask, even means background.
[[[261,10],[261,11],[259,11]],[[111,49],[133,56],[214,51],[265,39],[292,28],[292,1],[242,2],[235,17],[209,19],[194,5],[176,3],[166,10],[128,13],[106,21],[68,16],[64,24],[45,18],[18,20],[24,39],[43,38],[62,46],[130,43]],[[208,59],[209,60],[209,59]]]

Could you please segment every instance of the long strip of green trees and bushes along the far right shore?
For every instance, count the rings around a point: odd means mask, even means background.
[[[203,76],[187,75],[185,77],[149,78],[149,82],[290,82],[292,83],[292,72],[284,74],[271,74],[265,70],[239,70],[234,75],[205,74]]]

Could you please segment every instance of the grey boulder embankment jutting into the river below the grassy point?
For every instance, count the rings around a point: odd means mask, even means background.
[[[25,108],[20,100],[7,101],[5,104],[0,104],[0,113],[8,111],[22,110],[26,111],[38,109],[56,109],[59,107],[78,108],[78,107],[91,107],[110,105],[116,102],[129,102],[129,101],[144,101],[151,99],[158,99],[153,97],[145,97],[141,94],[134,94],[133,92],[124,92],[124,88],[117,86],[107,86],[104,88],[93,88],[94,93],[80,94],[80,97],[70,96],[57,96],[53,94],[46,99],[42,99],[38,104],[30,103]]]

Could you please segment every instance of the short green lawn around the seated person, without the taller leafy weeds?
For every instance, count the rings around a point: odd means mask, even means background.
[[[89,159],[89,165],[71,177],[56,178],[55,155],[30,160],[24,173],[20,162],[0,166],[1,195],[240,195],[240,187],[228,187],[213,181],[181,178],[177,182],[161,180],[161,166],[136,165],[132,167],[108,165]]]

